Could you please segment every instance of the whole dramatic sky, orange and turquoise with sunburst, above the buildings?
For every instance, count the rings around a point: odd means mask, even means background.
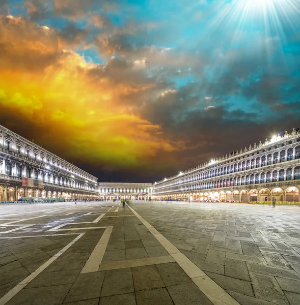
[[[0,125],[154,182],[300,127],[300,0],[0,0]]]

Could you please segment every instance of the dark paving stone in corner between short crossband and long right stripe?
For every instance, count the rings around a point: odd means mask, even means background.
[[[177,263],[158,264],[156,268],[166,286],[192,282]]]

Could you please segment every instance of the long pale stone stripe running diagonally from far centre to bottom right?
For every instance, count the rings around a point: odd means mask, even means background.
[[[155,236],[155,238],[160,242],[161,246],[171,254],[177,264],[185,271],[188,277],[192,279],[192,281],[214,305],[240,305],[222,287],[217,285],[213,280],[206,276],[206,274],[197,265],[190,261],[183,253],[181,253],[166,237],[162,236],[156,229],[154,229],[132,207],[129,205],[128,207],[131,209],[134,215],[140,219],[145,227]]]

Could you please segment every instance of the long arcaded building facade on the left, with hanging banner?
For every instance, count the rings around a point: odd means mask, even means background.
[[[22,177],[42,181],[42,187],[22,187]],[[97,180],[84,170],[0,126],[0,201],[22,197],[98,199]]]

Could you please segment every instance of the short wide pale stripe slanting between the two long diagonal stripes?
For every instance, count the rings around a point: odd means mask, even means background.
[[[107,227],[80,273],[96,272],[102,262],[113,227]]]

